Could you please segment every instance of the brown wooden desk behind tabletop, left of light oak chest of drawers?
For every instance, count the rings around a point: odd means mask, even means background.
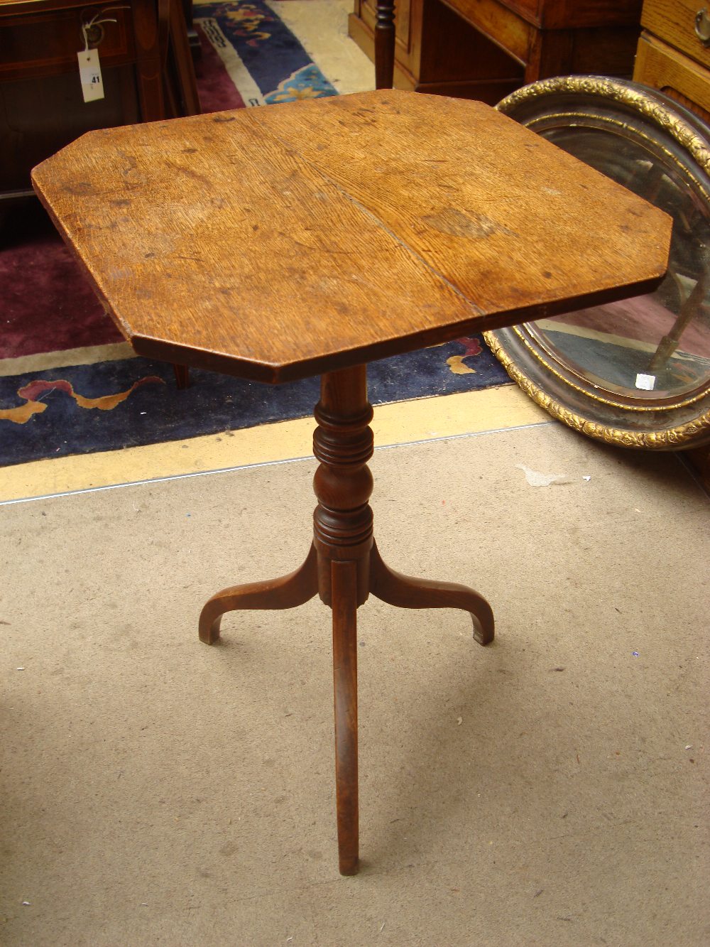
[[[376,0],[350,36],[369,56]],[[597,73],[630,78],[641,0],[399,0],[395,85],[495,104],[521,85]]]

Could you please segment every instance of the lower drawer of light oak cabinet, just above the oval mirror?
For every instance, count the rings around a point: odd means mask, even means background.
[[[633,79],[710,118],[710,72],[653,36],[639,40]]]

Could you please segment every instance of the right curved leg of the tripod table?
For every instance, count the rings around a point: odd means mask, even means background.
[[[370,552],[370,592],[399,608],[462,608],[473,620],[475,640],[481,645],[493,640],[493,610],[483,596],[466,585],[400,575],[382,561],[374,543]]]

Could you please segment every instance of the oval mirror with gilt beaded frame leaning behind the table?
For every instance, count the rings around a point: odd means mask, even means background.
[[[673,238],[654,293],[490,331],[488,345],[584,434],[661,450],[710,442],[707,126],[661,93],[594,76],[541,80],[497,108],[665,210]]]

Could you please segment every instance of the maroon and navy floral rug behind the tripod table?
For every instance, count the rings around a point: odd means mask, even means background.
[[[346,37],[349,6],[196,5],[203,111],[358,91],[363,54]],[[171,366],[135,357],[36,203],[5,209],[0,240],[0,465],[311,414],[317,379],[272,386],[192,369],[179,390]],[[383,359],[369,377],[375,404],[509,384],[480,337]]]

